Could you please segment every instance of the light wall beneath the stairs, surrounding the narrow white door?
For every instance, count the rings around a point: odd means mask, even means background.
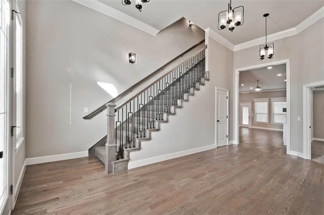
[[[141,150],[130,153],[130,166],[166,157],[185,150],[207,150],[215,147],[215,87],[229,89],[229,140],[233,140],[233,52],[207,37],[206,57],[210,81],[200,86],[176,116],[161,124],[160,131],[151,133],[151,140],[142,142]],[[150,160],[150,161],[149,161]]]

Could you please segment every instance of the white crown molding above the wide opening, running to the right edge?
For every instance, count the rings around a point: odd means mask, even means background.
[[[321,7],[315,13],[310,15],[308,18],[306,18],[300,24],[298,24],[296,27],[289,28],[289,29],[286,29],[283,31],[279,31],[279,32],[267,35],[267,40],[268,40],[268,42],[271,42],[274,40],[278,40],[278,39],[282,39],[285,37],[294,36],[296,34],[299,34],[300,32],[302,32],[303,30],[305,30],[306,28],[308,28],[309,26],[311,26],[312,24],[314,24],[315,22],[317,22],[318,20],[320,20],[323,17],[324,17],[324,7]],[[238,50],[242,50],[245,48],[250,48],[250,47],[253,47],[256,45],[260,45],[260,44],[263,44],[264,41],[265,41],[265,36],[259,37],[257,39],[253,39],[253,40],[250,40],[247,42],[243,42],[243,43],[235,45],[234,51],[238,51]]]

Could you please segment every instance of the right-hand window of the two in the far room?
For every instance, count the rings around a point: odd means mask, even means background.
[[[271,98],[272,103],[272,124],[286,123],[286,112],[282,112],[287,107],[286,97]]]

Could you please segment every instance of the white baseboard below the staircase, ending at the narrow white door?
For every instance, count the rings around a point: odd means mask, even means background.
[[[159,156],[155,156],[155,157],[149,157],[149,158],[145,158],[145,159],[135,160],[133,162],[130,161],[128,163],[128,169],[130,170],[133,168],[142,167],[142,166],[154,164],[157,162],[163,162],[165,160],[170,160],[173,158],[182,157],[185,155],[194,154],[194,153],[201,152],[201,151],[207,151],[207,150],[214,149],[214,148],[216,148],[215,144],[203,146],[203,147],[199,147],[199,148],[193,148],[193,149],[189,149],[189,150],[185,150],[185,151],[179,151],[179,152],[174,152],[174,153],[170,153],[170,154],[164,154],[164,155],[159,155]]]

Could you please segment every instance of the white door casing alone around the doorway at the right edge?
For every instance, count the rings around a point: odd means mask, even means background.
[[[303,156],[305,159],[311,159],[311,143],[312,143],[312,114],[313,114],[313,87],[324,85],[323,81],[313,82],[303,85]]]

